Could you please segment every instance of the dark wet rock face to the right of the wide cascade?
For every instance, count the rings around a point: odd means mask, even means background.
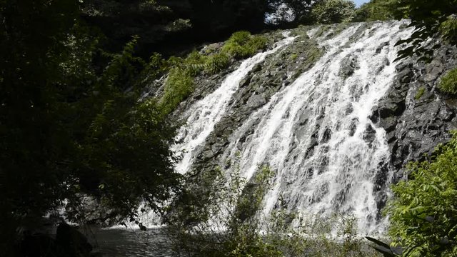
[[[371,120],[387,133],[391,165],[398,171],[394,181],[404,176],[406,163],[422,160],[457,129],[457,101],[436,88],[439,78],[457,66],[456,57],[456,48],[443,46],[429,64],[399,61],[393,86],[373,111]]]

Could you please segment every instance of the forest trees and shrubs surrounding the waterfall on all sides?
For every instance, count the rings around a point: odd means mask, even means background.
[[[271,233],[261,233],[253,216],[276,171],[262,166],[246,181],[235,160],[227,164],[236,171],[230,183],[219,168],[179,173],[181,157],[171,147],[197,79],[271,50],[276,39],[265,35],[407,19],[413,33],[396,42],[405,46],[396,59],[422,64],[439,47],[456,46],[456,1],[2,0],[0,8],[0,256],[94,256],[66,223],[128,221],[147,230],[145,209],[163,217],[184,252],[178,256],[457,255],[455,131],[403,167],[408,179],[391,186],[380,214],[388,216],[388,236],[358,238],[356,221],[338,217],[342,241],[284,233],[296,218],[284,211],[273,212]],[[211,49],[214,42],[224,43]],[[323,55],[316,49],[300,52],[312,52],[309,67]],[[457,69],[436,91],[455,99]],[[226,233],[209,235],[201,224],[218,202],[230,203],[221,221]],[[65,218],[57,228],[64,239],[33,233],[45,216]],[[313,229],[326,229],[318,220]]]

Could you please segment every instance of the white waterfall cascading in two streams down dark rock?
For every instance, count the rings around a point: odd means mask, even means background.
[[[328,31],[316,38],[325,49],[321,59],[232,133],[221,163],[239,156],[248,180],[259,165],[276,172],[263,213],[281,207],[323,217],[351,214],[362,233],[381,229],[379,203],[385,201],[393,171],[386,132],[369,116],[396,76],[394,45],[411,34],[402,27],[394,21],[351,24],[336,36]],[[316,37],[316,31],[308,36]],[[219,89],[189,109],[179,133],[183,143],[174,146],[185,151],[179,172],[189,170],[215,124],[230,115],[229,101],[243,76],[288,44],[299,42],[287,37],[243,61]]]

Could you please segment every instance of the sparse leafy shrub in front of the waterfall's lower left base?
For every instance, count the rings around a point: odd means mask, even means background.
[[[281,256],[276,246],[261,236],[254,218],[273,173],[263,167],[247,182],[238,164],[233,166],[229,178],[220,169],[204,174],[199,187],[186,187],[181,204],[171,207],[168,228],[176,251],[191,256]]]

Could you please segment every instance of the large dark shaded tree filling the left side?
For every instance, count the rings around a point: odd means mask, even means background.
[[[179,190],[174,129],[154,100],[139,101],[155,63],[99,49],[77,1],[1,1],[1,249],[28,219],[66,202],[71,221],[133,221],[139,202]],[[97,65],[94,65],[94,61]],[[143,71],[143,72],[142,72]],[[86,213],[104,208],[99,216]]]

